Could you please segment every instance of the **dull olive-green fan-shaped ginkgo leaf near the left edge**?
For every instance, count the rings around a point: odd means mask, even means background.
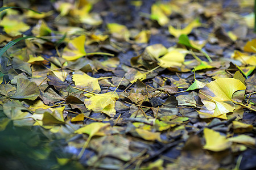
[[[10,98],[35,100],[39,95],[39,87],[35,82],[30,82],[30,80],[18,78],[17,90],[13,96],[10,96]]]

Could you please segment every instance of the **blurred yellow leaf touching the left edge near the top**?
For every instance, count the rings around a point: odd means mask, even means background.
[[[18,36],[22,34],[22,32],[30,29],[30,26],[22,22],[22,19],[10,19],[8,17],[3,18],[0,21],[0,25],[5,29],[5,32],[10,36]]]

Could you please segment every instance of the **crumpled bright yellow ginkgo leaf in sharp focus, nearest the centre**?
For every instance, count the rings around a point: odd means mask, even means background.
[[[106,94],[84,94],[86,97],[91,96],[89,99],[84,100],[87,109],[93,112],[102,112],[109,117],[115,115],[115,101],[119,99],[116,92],[108,92]]]

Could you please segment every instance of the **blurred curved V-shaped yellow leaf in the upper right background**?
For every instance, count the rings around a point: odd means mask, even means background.
[[[169,28],[169,32],[171,33],[171,35],[173,35],[177,38],[182,34],[188,35],[189,33],[191,33],[193,28],[200,27],[200,26],[201,26],[201,23],[200,23],[199,19],[195,19],[191,23],[189,23],[187,25],[187,27],[185,27],[183,29],[175,29],[174,27],[172,27],[172,25],[170,25],[168,28]]]

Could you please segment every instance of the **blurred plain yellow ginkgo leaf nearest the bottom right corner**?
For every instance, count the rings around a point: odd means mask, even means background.
[[[226,150],[232,144],[225,136],[208,128],[204,129],[204,138],[206,142],[204,149],[214,152]]]

